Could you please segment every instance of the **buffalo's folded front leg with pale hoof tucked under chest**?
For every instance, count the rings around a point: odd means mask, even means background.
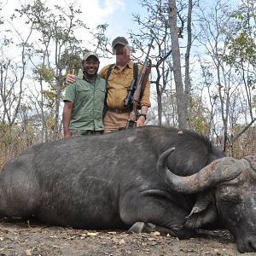
[[[189,211],[177,206],[167,198],[127,194],[120,203],[120,216],[131,225],[130,232],[169,233],[179,238],[188,238],[192,230],[184,227]]]

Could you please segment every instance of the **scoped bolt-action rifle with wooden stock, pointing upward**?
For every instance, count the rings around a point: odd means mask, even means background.
[[[128,89],[128,94],[124,101],[125,107],[131,106],[131,102],[132,102],[132,111],[130,113],[129,119],[127,120],[126,129],[136,127],[138,102],[141,100],[141,96],[143,95],[143,91],[145,90],[145,87],[148,81],[148,76],[151,69],[149,52],[152,47],[153,41],[154,41],[154,38],[151,39],[151,42],[148,45],[148,53],[143,63],[142,72],[139,74],[139,77],[137,79],[137,83],[135,79],[132,79],[131,85]]]

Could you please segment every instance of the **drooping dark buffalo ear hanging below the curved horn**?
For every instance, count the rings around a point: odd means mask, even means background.
[[[187,217],[185,227],[193,230],[212,223],[216,218],[217,209],[214,197],[212,191],[208,191],[198,196],[195,206]]]

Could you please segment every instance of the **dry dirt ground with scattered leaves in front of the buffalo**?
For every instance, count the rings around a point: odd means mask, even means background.
[[[199,230],[195,238],[73,230],[34,221],[0,219],[0,255],[239,255],[226,230]],[[243,255],[256,255],[244,253]]]

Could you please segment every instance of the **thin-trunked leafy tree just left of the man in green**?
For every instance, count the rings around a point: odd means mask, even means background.
[[[33,49],[33,54],[40,57],[41,62],[33,62],[32,55],[30,60],[35,67],[34,73],[41,87],[40,108],[47,141],[43,96],[47,98],[48,107],[55,116],[53,138],[60,137],[60,103],[65,73],[67,70],[75,72],[78,70],[77,61],[80,59],[77,56],[82,52],[79,46],[81,41],[74,36],[74,31],[87,27],[77,17],[81,12],[79,9],[73,8],[73,3],[67,9],[55,5],[54,10],[51,10],[41,0],[36,0],[32,5],[26,4],[16,11],[20,16],[26,16],[26,24],[29,24],[39,37],[39,43],[32,43],[31,49]],[[49,89],[44,90],[44,83],[48,84]]]

